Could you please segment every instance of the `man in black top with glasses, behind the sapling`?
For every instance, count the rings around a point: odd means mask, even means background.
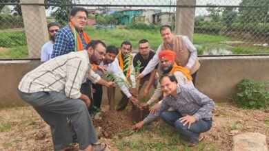
[[[141,73],[145,69],[145,67],[148,65],[148,62],[150,62],[153,56],[155,56],[155,52],[150,50],[150,44],[148,43],[148,40],[146,39],[139,40],[138,49],[139,49],[139,53],[135,55],[134,59],[132,60],[132,63],[134,67],[137,67],[140,62],[141,68],[139,69],[139,73]],[[147,75],[145,75],[143,78],[140,79],[139,90],[141,89],[143,84],[148,81],[146,88],[143,90],[143,95],[142,95],[143,97],[146,97],[148,95],[148,91],[150,90],[150,86],[152,84],[154,88],[157,89],[157,84],[159,83],[158,82],[159,75],[157,73],[157,69],[158,69],[158,64],[155,66],[155,69],[151,73],[148,73]]]

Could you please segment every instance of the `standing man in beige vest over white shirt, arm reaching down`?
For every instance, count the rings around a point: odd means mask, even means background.
[[[172,34],[170,25],[162,25],[160,27],[160,34],[163,43],[158,47],[155,56],[150,60],[147,67],[137,76],[137,78],[143,78],[144,75],[147,75],[155,68],[155,65],[159,62],[158,54],[160,51],[170,49],[176,54],[175,62],[177,65],[190,71],[190,74],[192,75],[192,83],[195,85],[197,71],[200,67],[195,45],[192,44],[188,36]]]

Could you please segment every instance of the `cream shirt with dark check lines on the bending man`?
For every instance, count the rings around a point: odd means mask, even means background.
[[[87,51],[71,52],[53,58],[24,75],[19,90],[25,93],[56,91],[77,99],[86,78],[93,83],[100,80],[100,76],[92,71]]]

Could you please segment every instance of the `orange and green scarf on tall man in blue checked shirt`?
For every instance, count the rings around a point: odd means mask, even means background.
[[[74,51],[81,51],[84,50],[83,47],[83,43],[82,40],[79,36],[79,33],[77,33],[77,30],[74,28],[74,26],[72,25],[71,22],[68,23],[68,25],[71,28],[72,33],[74,34],[74,32],[76,32],[76,35],[74,35]],[[90,43],[90,38],[87,36],[86,32],[82,31],[82,36],[86,42],[86,44]],[[97,65],[95,65],[94,63],[92,63],[92,69],[96,70],[97,69]]]

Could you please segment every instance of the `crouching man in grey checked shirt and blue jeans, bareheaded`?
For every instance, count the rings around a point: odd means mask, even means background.
[[[161,106],[155,113],[133,126],[140,129],[157,117],[173,126],[190,143],[188,146],[197,146],[203,139],[200,134],[210,130],[212,126],[212,109],[215,103],[208,96],[200,93],[194,86],[177,84],[175,75],[163,75],[160,78],[161,89],[166,93]],[[167,111],[168,108],[175,111]]]

